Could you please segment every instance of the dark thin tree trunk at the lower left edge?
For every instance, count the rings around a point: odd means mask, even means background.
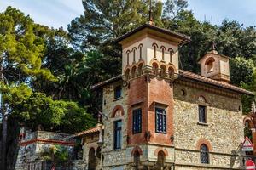
[[[6,139],[7,139],[7,116],[2,108],[2,170],[6,170]]]

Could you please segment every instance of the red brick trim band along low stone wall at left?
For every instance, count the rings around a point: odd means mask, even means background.
[[[28,140],[26,142],[21,142],[20,146],[26,146],[28,144],[34,144],[34,143],[43,143],[43,144],[61,144],[61,145],[68,145],[68,146],[74,146],[74,142],[66,142],[63,140],[54,140],[54,139],[32,139]]]

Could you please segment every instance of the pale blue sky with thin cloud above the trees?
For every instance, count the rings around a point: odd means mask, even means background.
[[[255,0],[188,0],[198,20],[220,25],[224,19],[237,20],[244,26],[256,26]],[[0,0],[0,12],[6,7],[19,8],[46,26],[67,30],[67,25],[84,13],[82,0]]]

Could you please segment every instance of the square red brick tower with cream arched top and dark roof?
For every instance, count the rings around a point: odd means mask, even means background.
[[[140,145],[148,152],[162,148],[172,153],[172,82],[178,75],[178,48],[189,42],[189,37],[145,24],[117,42],[122,45],[122,78],[128,87],[127,148]],[[155,112],[159,114],[155,116]],[[141,159],[152,159],[148,156]],[[172,159],[169,156],[166,162]]]

